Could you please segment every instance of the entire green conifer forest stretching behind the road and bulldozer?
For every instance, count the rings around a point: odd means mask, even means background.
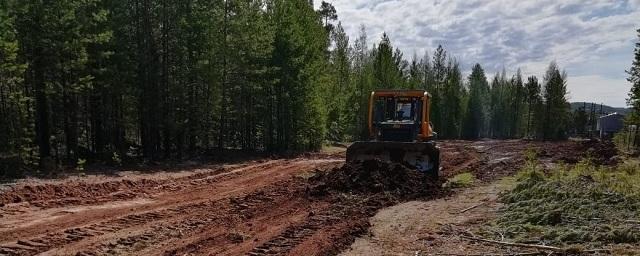
[[[464,76],[443,46],[349,38],[309,0],[0,1],[0,160],[23,168],[367,139],[368,96],[426,89],[442,139],[560,140],[567,74]],[[508,67],[510,70],[515,67]]]

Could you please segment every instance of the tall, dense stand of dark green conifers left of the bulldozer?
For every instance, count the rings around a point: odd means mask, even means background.
[[[308,1],[3,1],[0,18],[0,157],[50,170],[325,139],[329,37]]]

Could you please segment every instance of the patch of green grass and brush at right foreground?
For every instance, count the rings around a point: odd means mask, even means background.
[[[484,235],[558,246],[640,243],[639,162],[596,167],[584,160],[545,175],[535,157],[527,159]]]

